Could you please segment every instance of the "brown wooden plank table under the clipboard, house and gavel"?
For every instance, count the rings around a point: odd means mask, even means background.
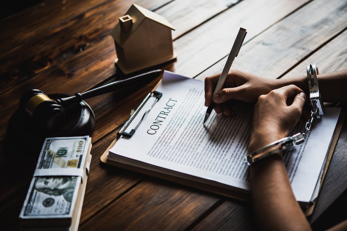
[[[46,0],[3,18],[3,230],[18,229],[18,215],[39,155],[26,151],[20,141],[11,146],[6,139],[7,122],[18,108],[20,96],[29,89],[74,94],[127,77],[114,65],[115,44],[109,33],[132,3],[158,13],[176,28],[172,36],[177,60],[149,70],[161,68],[199,80],[220,72],[239,27],[248,34],[233,68],[269,78],[305,75],[310,63],[317,63],[321,73],[347,68],[345,0]],[[129,94],[112,92],[86,100],[95,113],[96,126],[91,135],[93,157],[80,230],[254,229],[249,203],[101,163],[101,154],[130,110],[159,80],[135,87]],[[315,210],[308,218],[317,230],[336,222],[330,220],[340,214],[335,204],[346,202],[346,142],[345,123]],[[345,219],[345,210],[344,215]]]

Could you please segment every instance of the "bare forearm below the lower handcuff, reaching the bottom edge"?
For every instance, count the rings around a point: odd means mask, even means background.
[[[263,230],[311,230],[291,190],[281,154],[251,165],[252,203]]]

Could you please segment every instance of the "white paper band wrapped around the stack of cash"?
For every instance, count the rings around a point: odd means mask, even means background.
[[[86,170],[86,171],[85,171]],[[89,165],[87,164],[86,169],[82,168],[44,168],[44,169],[36,169],[34,172],[34,177],[38,176],[80,176],[83,178],[86,174],[89,173]]]

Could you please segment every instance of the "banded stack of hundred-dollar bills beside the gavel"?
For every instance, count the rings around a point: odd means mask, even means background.
[[[91,161],[91,138],[46,138],[22,211],[22,230],[77,230]]]

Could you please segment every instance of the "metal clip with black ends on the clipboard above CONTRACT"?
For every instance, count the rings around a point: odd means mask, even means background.
[[[136,110],[130,115],[129,119],[125,122],[123,127],[117,132],[117,136],[125,136],[128,138],[131,138],[134,135],[134,133],[135,133],[136,129],[138,128],[138,126],[140,125],[140,123],[142,122],[143,118],[147,114],[147,112],[149,112],[153,108],[154,104],[156,102],[158,102],[158,100],[160,100],[162,95],[163,94],[161,92],[158,92],[158,91],[153,91],[153,92],[148,93],[147,96],[145,97],[145,99],[140,103],[140,105],[138,105]],[[136,117],[138,112],[143,108],[143,106],[146,104],[146,102],[149,100],[149,98],[151,98],[151,96],[154,96],[156,98],[155,101],[153,102],[153,104],[151,105],[151,107],[145,111],[145,113],[142,115],[141,120],[137,123],[137,125],[134,129],[132,129],[130,132],[125,132],[125,129],[128,128],[129,124],[134,120],[134,118]]]

